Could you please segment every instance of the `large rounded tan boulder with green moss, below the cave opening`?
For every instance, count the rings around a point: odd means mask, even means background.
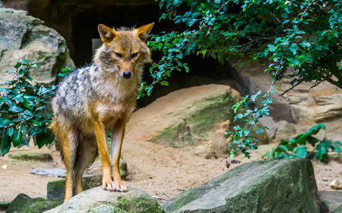
[[[235,125],[232,106],[240,98],[230,86],[209,84],[170,92],[133,113],[127,140],[148,140],[171,147],[195,147],[195,153],[222,155],[229,149],[225,131]],[[144,118],[144,119],[142,119]],[[129,134],[135,131],[135,134]],[[259,143],[267,136],[259,137]],[[203,150],[205,149],[205,150]]]

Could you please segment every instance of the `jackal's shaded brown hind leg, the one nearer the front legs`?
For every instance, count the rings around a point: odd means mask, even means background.
[[[83,192],[82,175],[96,156],[96,138],[80,138],[74,168],[76,194]]]

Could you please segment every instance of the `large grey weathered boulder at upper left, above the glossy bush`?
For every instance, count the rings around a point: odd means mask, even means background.
[[[54,29],[25,11],[0,8],[0,83],[12,79],[6,71],[22,58],[39,65],[31,73],[34,82],[53,82],[62,68],[75,66],[66,41]]]

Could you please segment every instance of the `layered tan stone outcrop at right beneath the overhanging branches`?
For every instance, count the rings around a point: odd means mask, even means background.
[[[254,94],[259,90],[267,91],[272,79],[263,73],[264,69],[265,66],[257,62],[235,69],[235,75],[241,82],[238,84],[239,91],[247,94]],[[269,139],[275,142],[280,139],[288,140],[318,123],[324,123],[326,130],[320,133],[320,139],[341,140],[342,89],[328,82],[322,82],[318,86],[315,86],[315,82],[306,82],[285,95],[279,95],[291,88],[289,83],[290,79],[282,79],[276,83],[278,95],[272,95],[269,116],[261,118],[263,124],[268,123],[267,126],[271,127],[271,131],[267,132]]]

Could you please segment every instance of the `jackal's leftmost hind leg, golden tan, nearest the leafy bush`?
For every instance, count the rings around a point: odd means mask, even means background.
[[[61,134],[59,134],[61,135]],[[68,131],[62,138],[59,138],[66,166],[66,190],[64,202],[73,197],[73,167],[77,151],[77,131]]]

